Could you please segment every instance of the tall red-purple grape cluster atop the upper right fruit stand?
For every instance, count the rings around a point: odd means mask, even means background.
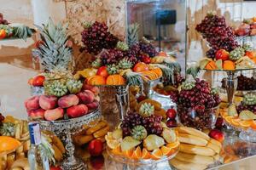
[[[237,48],[238,42],[235,40],[235,33],[230,26],[226,26],[224,16],[207,14],[204,20],[195,27],[201,32],[203,38],[207,39],[212,48],[207,52],[207,56],[213,58],[218,49],[225,49],[230,52]]]

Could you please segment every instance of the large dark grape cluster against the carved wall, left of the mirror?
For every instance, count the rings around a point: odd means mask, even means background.
[[[119,39],[108,31],[105,23],[95,22],[82,31],[84,50],[90,54],[99,54],[103,48],[114,48]]]

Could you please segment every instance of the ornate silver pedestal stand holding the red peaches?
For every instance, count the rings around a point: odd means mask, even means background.
[[[61,162],[62,169],[65,170],[84,170],[84,162],[77,159],[74,156],[74,145],[71,138],[72,134],[79,133],[82,130],[84,124],[89,124],[100,119],[102,116],[101,112],[97,109],[87,115],[61,120],[61,121],[40,121],[40,127],[43,130],[49,130],[55,132],[55,134],[62,139],[65,148],[67,150],[67,156],[64,161]]]

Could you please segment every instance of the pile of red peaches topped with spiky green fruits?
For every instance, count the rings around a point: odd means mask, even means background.
[[[44,94],[26,99],[25,107],[32,120],[55,121],[65,114],[69,118],[79,117],[98,108],[98,94],[98,88],[83,87],[82,82],[69,77],[44,81]]]

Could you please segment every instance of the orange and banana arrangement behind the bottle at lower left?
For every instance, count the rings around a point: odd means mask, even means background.
[[[0,168],[15,169],[15,167],[20,167],[28,170],[26,155],[31,143],[27,122],[13,116],[2,116],[1,119]],[[61,161],[63,154],[66,153],[61,139],[49,132],[42,133],[42,149],[47,151],[45,153],[53,165],[56,161]]]

